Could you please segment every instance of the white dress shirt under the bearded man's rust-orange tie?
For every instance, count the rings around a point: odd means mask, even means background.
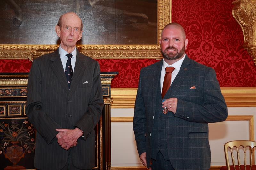
[[[161,78],[160,78],[160,85],[161,85],[161,92],[162,92],[162,89],[163,89],[163,84],[164,84],[164,76],[165,76],[165,68],[166,67],[174,67],[175,70],[173,70],[172,72],[172,79],[171,79],[171,84],[173,82],[173,80],[175,79],[175,77],[177,76],[177,74],[179,73],[180,71],[180,67],[185,59],[185,53],[184,53],[184,56],[177,62],[173,63],[172,65],[168,65],[164,60],[163,60],[163,66],[162,66],[162,71],[161,71]],[[171,85],[170,84],[170,85]]]

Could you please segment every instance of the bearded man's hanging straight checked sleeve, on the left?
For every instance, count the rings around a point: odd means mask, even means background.
[[[145,106],[142,97],[142,72],[140,73],[139,86],[137,90],[137,96],[134,107],[134,116],[133,116],[133,131],[135,135],[135,140],[137,143],[137,150],[139,156],[146,152],[146,114],[145,114]]]

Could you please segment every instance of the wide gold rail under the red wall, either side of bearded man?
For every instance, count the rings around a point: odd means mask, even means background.
[[[255,107],[256,87],[222,87],[228,107]],[[111,108],[134,108],[137,88],[111,88]]]

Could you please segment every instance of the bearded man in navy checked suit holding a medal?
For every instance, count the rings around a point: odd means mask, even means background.
[[[164,59],[141,70],[135,102],[140,160],[152,170],[208,170],[208,123],[228,115],[216,73],[185,54],[181,25],[166,25],[159,43]]]

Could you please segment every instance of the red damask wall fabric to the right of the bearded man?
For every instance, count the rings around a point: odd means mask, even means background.
[[[215,69],[221,87],[255,87],[256,66],[242,47],[233,0],[172,0],[172,22],[187,34],[188,56]]]

